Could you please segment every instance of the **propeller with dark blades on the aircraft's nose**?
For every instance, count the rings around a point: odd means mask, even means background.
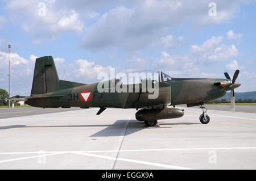
[[[230,85],[231,85],[231,92],[230,92],[230,103],[231,103],[231,111],[234,112],[235,111],[235,98],[234,98],[234,89],[236,89],[237,87],[239,87],[241,85],[241,83],[236,82],[236,79],[238,77],[240,70],[236,70],[233,78],[231,80],[230,76],[228,73],[224,73],[226,79],[230,80]]]

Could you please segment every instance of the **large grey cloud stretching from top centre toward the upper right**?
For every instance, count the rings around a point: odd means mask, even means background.
[[[217,1],[218,15],[212,17],[208,15],[208,3],[145,0],[133,1],[133,8],[114,7],[86,28],[80,47],[92,51],[114,47],[143,49],[160,40],[168,28],[190,20],[195,26],[227,22],[240,9],[240,1]],[[162,43],[171,46],[171,39],[167,36]]]

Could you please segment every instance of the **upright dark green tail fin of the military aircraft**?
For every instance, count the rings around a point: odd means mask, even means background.
[[[31,95],[59,89],[59,76],[52,56],[36,58]]]

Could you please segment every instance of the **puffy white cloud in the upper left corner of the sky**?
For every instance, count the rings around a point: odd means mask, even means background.
[[[13,22],[21,23],[22,30],[30,33],[32,43],[40,44],[42,40],[68,32],[81,33],[84,21],[75,10],[56,9],[54,1],[46,1],[46,14],[39,14],[39,0],[14,0],[7,4]]]

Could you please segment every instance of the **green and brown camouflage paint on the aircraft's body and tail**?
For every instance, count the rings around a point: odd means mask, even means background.
[[[160,79],[160,78],[159,78]],[[118,79],[108,81],[109,87],[115,86]],[[226,86],[214,83],[224,82]],[[229,79],[213,78],[172,78],[159,82],[159,96],[148,99],[148,92],[98,92],[98,83],[83,83],[59,80],[52,56],[36,58],[31,96],[14,96],[11,100],[25,100],[34,107],[100,107],[100,108],[153,108],[163,109],[167,106],[187,104],[199,106],[210,100],[221,98],[232,89]],[[134,86],[127,89],[134,89]],[[140,85],[137,85],[141,87]],[[233,85],[236,86],[236,85]],[[239,86],[239,85],[238,85]],[[236,87],[233,87],[233,89]],[[111,88],[108,88],[109,90]],[[141,88],[139,89],[141,90]],[[88,101],[81,99],[81,92],[89,91]]]

